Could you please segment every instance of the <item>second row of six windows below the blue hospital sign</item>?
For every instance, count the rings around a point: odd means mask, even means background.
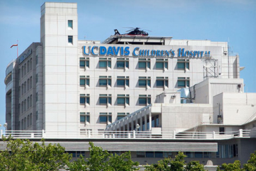
[[[189,87],[189,77],[178,77],[177,87]],[[117,76],[117,87],[129,87],[129,76]],[[80,76],[80,85],[90,86],[90,76]],[[168,77],[157,77],[155,85],[158,88],[169,87]],[[112,76],[99,76],[99,87],[112,87]],[[138,87],[151,87],[151,77],[139,77]]]

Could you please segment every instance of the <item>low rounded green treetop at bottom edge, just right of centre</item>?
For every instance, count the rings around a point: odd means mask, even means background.
[[[184,158],[186,155],[179,152],[174,159],[165,158],[146,167],[148,171],[203,171],[203,165],[198,161],[191,161],[186,165]]]

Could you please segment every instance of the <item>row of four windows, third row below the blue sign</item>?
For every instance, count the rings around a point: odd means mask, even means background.
[[[150,105],[151,95],[139,94],[138,103],[139,105]],[[90,105],[90,94],[80,94],[80,105]],[[112,105],[112,94],[99,94],[98,105]],[[116,105],[130,105],[130,95],[117,94]]]

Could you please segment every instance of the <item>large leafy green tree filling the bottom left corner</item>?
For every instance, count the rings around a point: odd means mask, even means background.
[[[44,141],[39,144],[10,137],[3,140],[8,144],[0,153],[0,170],[58,170],[71,159],[60,144],[46,146]]]

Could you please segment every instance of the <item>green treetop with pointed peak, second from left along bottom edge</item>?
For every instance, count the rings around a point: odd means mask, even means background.
[[[80,156],[77,161],[68,164],[70,170],[108,170],[108,171],[119,171],[119,170],[137,170],[135,167],[139,165],[138,162],[132,162],[131,153],[126,152],[122,155],[113,155],[104,151],[101,147],[90,144],[90,156],[86,160]]]

